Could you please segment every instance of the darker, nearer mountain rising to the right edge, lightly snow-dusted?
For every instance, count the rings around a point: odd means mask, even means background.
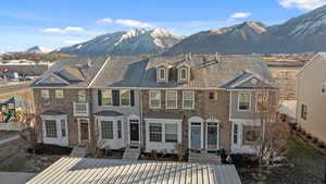
[[[326,51],[326,5],[280,25],[244,22],[231,27],[200,32],[176,44],[164,54],[310,51]]]

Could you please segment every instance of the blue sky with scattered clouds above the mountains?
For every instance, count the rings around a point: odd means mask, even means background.
[[[279,24],[326,0],[10,0],[0,7],[0,50],[60,48],[104,33],[166,28],[175,34],[244,21]]]

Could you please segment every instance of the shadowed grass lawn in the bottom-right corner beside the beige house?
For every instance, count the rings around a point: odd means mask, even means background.
[[[323,184],[326,155],[319,154],[301,138],[289,139],[288,159],[291,165],[268,167],[256,179],[260,169],[239,168],[243,184]]]

